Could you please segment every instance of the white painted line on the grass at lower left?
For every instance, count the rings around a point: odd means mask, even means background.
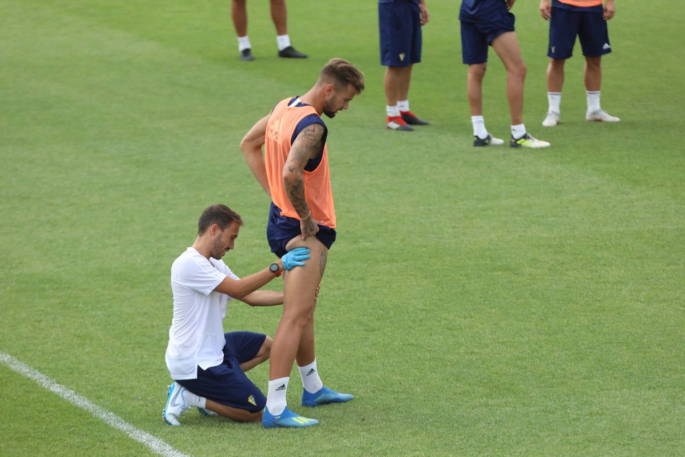
[[[178,452],[170,445],[164,443],[164,441],[155,438],[155,436],[152,436],[147,432],[143,432],[142,430],[135,428],[130,423],[121,419],[121,417],[115,415],[113,412],[105,410],[105,408],[102,408],[101,406],[97,406],[93,402],[90,402],[90,400],[88,400],[86,397],[82,397],[82,395],[69,390],[61,384],[58,384],[57,382],[48,378],[46,375],[40,373],[40,371],[37,371],[25,363],[16,360],[16,358],[10,356],[9,354],[5,354],[4,352],[0,351],[0,362],[2,362],[4,365],[7,365],[17,373],[38,382],[38,384],[47,388],[49,391],[53,391],[57,395],[60,395],[60,397],[64,398],[67,402],[75,404],[79,408],[90,412],[90,414],[98,419],[102,419],[108,423],[110,427],[116,428],[116,430],[120,430],[121,432],[124,432],[130,436],[132,439],[146,445],[152,450],[152,452],[160,454],[161,456],[169,457],[186,456],[186,454]]]

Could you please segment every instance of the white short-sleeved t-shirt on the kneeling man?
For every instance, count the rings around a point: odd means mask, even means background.
[[[223,318],[232,297],[214,288],[226,276],[240,279],[223,260],[207,260],[192,247],[171,265],[173,319],[165,359],[172,379],[197,379],[198,365],[206,370],[223,362]]]

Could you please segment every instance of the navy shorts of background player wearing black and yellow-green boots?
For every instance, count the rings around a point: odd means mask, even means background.
[[[467,65],[488,62],[488,46],[505,32],[514,32],[516,16],[507,10],[506,3],[497,1],[479,6],[474,14],[462,6],[459,13],[462,32],[462,62]]]

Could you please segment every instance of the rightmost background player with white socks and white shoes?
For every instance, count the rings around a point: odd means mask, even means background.
[[[564,64],[573,55],[575,36],[585,56],[585,94],[588,109],[586,121],[619,122],[599,106],[601,56],[611,52],[606,21],[614,17],[614,0],[541,0],[540,14],[549,21],[549,66],[547,66],[547,100],[549,108],[545,127],[559,123]]]

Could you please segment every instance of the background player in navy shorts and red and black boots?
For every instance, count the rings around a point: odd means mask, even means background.
[[[409,110],[412,66],[421,62],[421,27],[428,23],[425,0],[378,0],[381,65],[386,68],[386,128],[412,131],[427,125]]]

